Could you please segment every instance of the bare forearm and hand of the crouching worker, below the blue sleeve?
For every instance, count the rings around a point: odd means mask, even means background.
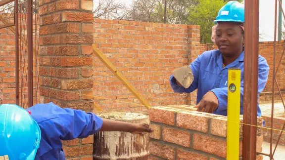
[[[143,132],[152,132],[149,125],[145,123],[128,123],[123,121],[116,120],[106,120],[103,119],[102,128],[100,131],[122,131],[122,132],[130,132],[133,134],[142,135]]]

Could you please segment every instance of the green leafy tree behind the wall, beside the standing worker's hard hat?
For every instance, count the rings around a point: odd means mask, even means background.
[[[213,43],[211,40],[212,27],[215,25],[219,10],[227,1],[224,0],[198,0],[199,3],[190,10],[190,24],[200,26],[200,42]]]

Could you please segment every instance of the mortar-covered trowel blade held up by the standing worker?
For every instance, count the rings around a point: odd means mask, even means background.
[[[192,70],[189,66],[183,66],[172,72],[173,77],[179,82],[184,88],[189,88],[194,80]]]

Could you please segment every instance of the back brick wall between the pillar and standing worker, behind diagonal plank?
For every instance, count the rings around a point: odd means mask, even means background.
[[[152,106],[191,103],[188,95],[173,93],[169,78],[199,54],[198,26],[95,19],[94,41]],[[95,97],[99,107],[144,108],[98,58],[94,61],[94,95],[106,98]]]

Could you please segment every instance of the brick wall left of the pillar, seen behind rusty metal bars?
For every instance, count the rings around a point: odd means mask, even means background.
[[[2,15],[4,16],[4,15]],[[19,34],[27,38],[27,15],[19,14]],[[33,23],[37,23],[34,16]],[[2,22],[0,22],[2,25]],[[33,26],[35,29],[35,26]],[[39,28],[37,28],[39,30]],[[34,33],[34,47],[38,51],[38,32]],[[25,41],[26,42],[26,41]],[[23,41],[19,41],[19,83],[20,83],[20,106],[28,107],[28,81],[27,81],[27,46]],[[39,55],[33,56],[33,78],[34,78],[34,104],[39,103],[38,83],[38,64]],[[16,79],[15,79],[15,34],[8,28],[0,29],[0,104],[16,103]]]

